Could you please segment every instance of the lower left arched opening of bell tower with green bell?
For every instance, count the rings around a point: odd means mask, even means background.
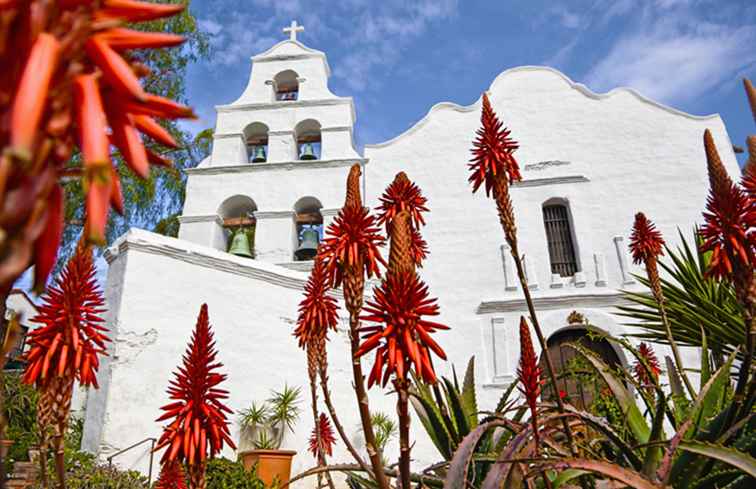
[[[246,195],[226,199],[218,209],[223,220],[224,251],[245,258],[255,257],[255,219],[257,204]]]

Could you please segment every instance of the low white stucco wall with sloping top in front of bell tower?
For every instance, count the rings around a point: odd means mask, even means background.
[[[101,389],[89,398],[84,447],[106,458],[160,435],[162,425],[154,420],[169,402],[165,390],[206,302],[218,360],[224,364],[220,371],[228,375],[222,385],[231,392],[228,405],[238,412],[267,399],[271,389],[302,387],[300,422],[284,448],[299,451],[295,473],[312,466],[305,449],[312,430],[306,355],[292,336],[307,275],[136,229],[114,245],[108,260],[113,272],[108,277],[108,325],[114,342],[100,370]],[[347,325],[344,316],[340,331],[331,334],[330,385],[341,421],[361,449]],[[370,396],[373,410],[394,412],[393,397],[377,389]],[[238,419],[230,421],[238,440]],[[433,460],[432,453],[427,440],[418,443],[416,456]],[[235,458],[231,450],[223,455]],[[334,460],[348,457],[337,444]],[[149,444],[114,462],[146,472]],[[297,487],[310,487],[309,481]]]

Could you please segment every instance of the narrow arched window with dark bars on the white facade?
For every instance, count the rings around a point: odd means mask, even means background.
[[[543,225],[549,245],[551,273],[571,277],[578,271],[570,209],[563,200],[552,199],[543,205]]]

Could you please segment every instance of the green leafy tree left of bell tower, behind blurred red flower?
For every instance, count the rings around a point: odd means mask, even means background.
[[[180,47],[171,49],[134,50],[131,56],[150,69],[150,74],[143,79],[145,89],[181,103],[186,100],[186,72],[191,63],[207,59],[210,45],[207,35],[197,25],[197,19],[191,13],[191,0],[159,0],[160,3],[184,3],[187,8],[179,15],[167,19],[143,22],[130,26],[144,31],[170,32],[186,37],[187,41]],[[136,177],[122,164],[120,155],[118,172],[121,175],[125,213],[119,216],[111,212],[108,223],[107,240],[126,232],[131,226],[154,229],[167,235],[178,231],[177,216],[184,203],[186,176],[184,170],[197,166],[207,156],[212,142],[212,130],[206,129],[197,137],[181,128],[175,121],[161,121],[174,139],[179,143],[178,149],[168,149],[154,141],[146,140],[146,146],[173,161],[172,168],[153,166],[150,177],[142,180]],[[74,156],[75,159],[78,155]],[[72,178],[64,184],[66,191],[66,227],[63,243],[58,256],[58,269],[72,255],[76,241],[84,222],[84,193],[81,182]]]

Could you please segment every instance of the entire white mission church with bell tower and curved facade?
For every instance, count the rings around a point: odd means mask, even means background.
[[[423,234],[430,256],[421,275],[439,299],[442,322],[451,326],[438,335],[450,357],[441,373],[452,363],[464,368],[475,355],[483,409],[492,408],[514,379],[517,324],[526,307],[495,206],[473,196],[467,183],[480,100],[468,107],[439,103],[404,133],[360,153],[353,99],[329,90],[326,56],[297,40],[301,27],[287,30],[290,39],[252,58],[241,96],[217,106],[212,154],[187,171],[178,239],[132,229],[107,250],[114,341],[100,390],[86,396],[84,437],[84,448],[103,458],[159,436],[154,420],[168,402],[166,386],[205,302],[233,409],[264,400],[284,384],[306,392],[305,355],[292,331],[312,265],[308,248],[343,204],[354,163],[363,167],[371,207],[399,171],[428,198]],[[687,231],[700,220],[705,129],[728,171],[739,171],[722,119],[689,115],[630,89],[595,94],[547,67],[508,69],[488,93],[521,144],[523,180],[512,193],[527,278],[546,332],[552,338],[574,333],[574,326],[565,330],[573,310],[606,332],[626,332],[613,307],[619,289],[640,290],[632,277],[640,270],[627,251],[633,216],[645,212],[672,244],[678,227]],[[233,244],[244,253],[241,238],[232,243],[240,226],[254,228],[253,258],[228,252]],[[342,314],[343,327],[329,345],[331,384],[341,419],[360,445]],[[394,396],[374,388],[371,407],[393,414]],[[299,452],[293,473],[314,464],[306,452],[308,412],[283,444]],[[420,435],[413,435],[416,467],[438,461],[418,423],[413,431]],[[349,460],[342,445],[334,460]],[[114,463],[146,472],[149,444]]]

